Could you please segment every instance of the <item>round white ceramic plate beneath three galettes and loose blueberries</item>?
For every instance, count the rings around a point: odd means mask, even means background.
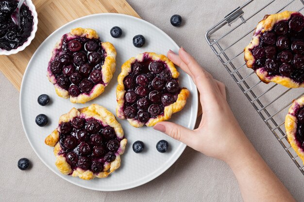
[[[123,35],[118,39],[110,35],[110,29],[114,26],[119,26],[123,31]],[[117,67],[113,79],[105,88],[104,93],[86,104],[72,104],[69,99],[58,97],[46,76],[47,64],[55,43],[63,34],[76,27],[95,29],[102,41],[113,43],[117,49]],[[132,39],[137,34],[145,36],[146,44],[144,47],[136,48],[133,46]],[[92,103],[97,103],[115,114],[117,77],[123,62],[145,51],[166,54],[169,49],[177,52],[178,48],[177,44],[165,32],[154,25],[133,16],[120,14],[85,16],[54,31],[34,53],[25,71],[20,92],[22,124],[26,136],[39,158],[51,171],[68,182],[101,191],[123,190],[140,186],[166,171],[183,153],[186,145],[153,130],[152,127],[135,128],[126,120],[118,119],[125,137],[128,139],[126,151],[121,156],[121,167],[110,174],[109,177],[103,179],[95,178],[85,181],[78,177],[61,174],[54,164],[53,148],[45,145],[44,139],[57,127],[59,116],[67,113],[72,107],[83,108]],[[193,129],[197,118],[198,94],[191,78],[183,71],[180,70],[179,72],[181,73],[180,85],[189,89],[191,95],[186,107],[181,112],[174,114],[170,121]],[[37,97],[43,93],[51,97],[51,103],[44,107],[37,103]],[[44,127],[35,124],[35,117],[40,113],[49,117],[49,124]],[[169,150],[162,154],[156,150],[155,145],[163,139],[169,142]],[[142,140],[145,143],[145,150],[141,154],[135,154],[132,150],[132,144],[136,140]]]

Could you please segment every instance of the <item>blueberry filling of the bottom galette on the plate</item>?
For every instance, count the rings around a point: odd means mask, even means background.
[[[115,160],[122,139],[117,138],[113,127],[94,118],[75,117],[59,124],[59,129],[59,155],[66,157],[73,171],[81,168],[97,173],[103,170],[105,162]]]

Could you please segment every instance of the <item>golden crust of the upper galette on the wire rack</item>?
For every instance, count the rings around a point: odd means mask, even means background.
[[[292,11],[284,11],[278,14],[266,15],[264,19],[261,20],[255,28],[253,33],[253,39],[250,44],[244,48],[244,59],[248,68],[253,68],[253,64],[255,62],[252,49],[254,47],[259,46],[261,34],[265,31],[271,31],[274,25],[282,20],[288,20],[292,14],[300,14],[299,12]],[[300,14],[302,15],[302,14]],[[261,67],[255,70],[256,75],[260,78],[264,83],[275,82],[286,86],[287,88],[299,88],[304,87],[304,83],[299,83],[292,78],[275,75],[269,76],[267,71]]]

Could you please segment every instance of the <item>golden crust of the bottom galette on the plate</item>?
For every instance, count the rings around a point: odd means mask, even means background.
[[[107,177],[110,173],[117,170],[120,167],[120,155],[122,155],[125,151],[125,147],[127,144],[127,139],[124,138],[123,130],[121,125],[116,120],[115,116],[105,109],[104,107],[92,104],[89,107],[82,109],[72,108],[67,114],[63,114],[59,118],[59,124],[64,122],[70,122],[74,117],[81,117],[84,119],[94,118],[96,120],[101,121],[101,123],[105,125],[109,125],[114,128],[116,136],[118,139],[122,139],[119,143],[118,151],[115,153],[116,158],[114,161],[108,163],[105,162],[103,165],[103,171],[98,173],[93,173],[90,170],[83,170],[81,168],[77,168],[76,170],[72,170],[71,166],[68,164],[66,157],[61,154],[63,148],[59,144],[59,132],[60,127],[58,127],[45,139],[45,144],[54,147],[54,155],[56,156],[55,165],[58,170],[65,175],[72,175],[73,177],[79,177],[84,180],[91,180],[95,177],[104,178]]]

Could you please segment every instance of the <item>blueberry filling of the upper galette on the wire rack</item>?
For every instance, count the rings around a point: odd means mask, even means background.
[[[265,68],[269,76],[285,76],[304,82],[304,17],[293,14],[260,33],[260,44],[252,49],[253,69]]]

